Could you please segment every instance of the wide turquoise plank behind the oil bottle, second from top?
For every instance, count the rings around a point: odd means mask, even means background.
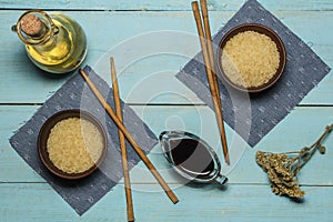
[[[0,52],[0,67],[6,74],[0,82],[0,103],[42,103],[70,78],[49,78],[29,61],[22,43],[16,33],[10,31],[10,26],[17,21],[21,12],[0,11],[0,41],[1,46],[6,46]],[[140,48],[133,47],[127,49],[125,53],[122,51],[113,54],[119,61],[120,93],[129,103],[202,103],[193,92],[174,78],[174,74],[200,50],[192,12],[65,11],[64,13],[77,19],[87,32],[89,52],[84,64],[90,65],[95,65],[109,49],[117,48],[124,40],[138,34],[165,30],[189,33],[188,39],[180,38],[164,42],[167,47],[171,46],[168,53],[149,57],[145,54],[144,58],[131,63],[128,63],[125,58],[140,53]],[[212,33],[215,33],[221,23],[233,13],[224,11],[210,13]],[[333,67],[333,42],[330,34],[324,34],[326,30],[333,30],[333,23],[330,22],[333,18],[332,11],[278,11],[275,14],[312,46],[312,49],[330,67]],[[325,30],[322,27],[325,27]],[[151,43],[159,46],[160,42],[155,39]],[[105,80],[109,80],[108,64],[109,60],[104,64],[105,71],[100,73]],[[160,78],[163,81],[158,81]],[[332,84],[331,72],[305,97],[302,104],[333,104]],[[142,88],[145,90],[141,90]]]

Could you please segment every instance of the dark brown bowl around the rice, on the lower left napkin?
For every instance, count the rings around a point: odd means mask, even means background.
[[[68,118],[80,118],[88,120],[89,122],[93,123],[98,130],[100,131],[102,135],[102,141],[103,141],[103,148],[101,155],[99,157],[97,163],[88,169],[87,171],[80,172],[80,173],[67,173],[63,172],[62,170],[58,169],[53,162],[49,158],[48,149],[47,149],[47,142],[49,139],[49,134],[51,132],[51,129],[60,121],[68,119]],[[41,161],[43,164],[49,169],[53,174],[68,179],[68,180],[77,180],[81,179],[84,176],[90,175],[94,170],[98,169],[98,167],[102,163],[102,161],[105,158],[107,154],[107,133],[104,131],[104,128],[102,124],[89,112],[82,111],[82,110],[65,110],[65,111],[60,111],[56,114],[53,114],[51,118],[49,118],[46,123],[42,125],[39,135],[38,135],[38,152]]]

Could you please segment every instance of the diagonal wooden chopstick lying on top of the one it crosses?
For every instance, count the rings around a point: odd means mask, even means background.
[[[97,99],[103,105],[103,108],[105,109],[105,111],[109,113],[109,115],[111,117],[111,119],[113,120],[113,122],[121,130],[121,132],[127,138],[127,140],[129,141],[129,143],[133,147],[134,151],[141,158],[142,162],[147,165],[147,168],[150,170],[150,172],[153,174],[153,176],[160,183],[160,185],[162,186],[162,189],[164,190],[164,192],[167,193],[167,195],[169,196],[169,199],[173,203],[178,203],[179,200],[175,196],[175,194],[173,193],[173,191],[169,188],[169,185],[167,184],[167,182],[164,181],[164,179],[161,176],[161,174],[158,172],[158,170],[152,164],[152,162],[147,158],[147,155],[144,154],[144,152],[140,148],[140,145],[134,141],[134,139],[132,138],[132,135],[129,133],[129,131],[123,125],[122,121],[120,121],[119,118],[115,115],[115,113],[113,112],[112,108],[105,101],[105,99],[100,93],[100,91],[97,89],[97,87],[93,84],[93,82],[89,79],[89,77],[85,74],[85,72],[82,69],[80,69],[79,72],[82,75],[82,78],[84,79],[84,81],[87,82],[87,84],[90,87],[91,91],[94,93],[94,95],[97,97]]]

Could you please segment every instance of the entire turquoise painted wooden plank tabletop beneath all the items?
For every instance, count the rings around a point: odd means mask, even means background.
[[[243,0],[208,2],[213,33],[244,3]],[[332,0],[260,2],[333,67]],[[13,132],[70,78],[46,75],[29,61],[22,43],[10,31],[19,16],[32,8],[61,11],[79,21],[89,41],[83,64],[98,65],[108,50],[140,34],[168,30],[194,36],[191,1],[0,1],[0,221],[125,221],[123,182],[79,216],[9,144]],[[200,51],[196,40],[181,46],[174,42],[182,54],[147,57],[130,64],[122,61],[123,54],[114,54],[121,73],[120,93],[157,135],[164,129],[185,129],[214,145],[218,137],[214,113],[174,78]],[[110,82],[109,72],[101,75]],[[301,189],[306,192],[303,201],[273,194],[266,174],[255,163],[258,150],[283,152],[312,144],[325,125],[333,123],[332,95],[331,71],[260,143],[254,148],[244,145],[223,188],[183,184],[174,173],[162,170],[180,199],[175,205],[139,163],[131,171],[137,221],[332,221],[333,137],[324,142],[326,154],[316,153],[300,173]],[[229,127],[226,135],[236,137]],[[159,149],[157,145],[149,157],[158,169],[167,169]],[[220,151],[219,155],[222,157]]]

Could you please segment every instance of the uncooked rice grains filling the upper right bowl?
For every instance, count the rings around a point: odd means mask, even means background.
[[[221,62],[225,75],[234,84],[255,88],[268,83],[275,74],[280,54],[270,37],[244,31],[225,43]]]

